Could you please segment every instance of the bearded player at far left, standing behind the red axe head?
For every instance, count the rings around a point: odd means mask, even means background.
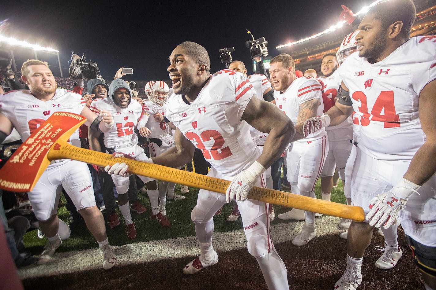
[[[10,91],[1,95],[0,143],[13,128],[17,129],[22,140],[26,140],[34,129],[58,111],[80,114],[87,118],[87,126],[100,132],[108,132],[109,128],[112,128],[113,120],[108,111],[99,111],[100,116],[95,115],[79,94],[56,89],[56,81],[47,62],[27,60],[21,67],[21,72],[22,80],[30,90]],[[78,130],[69,138],[69,143],[80,147]],[[62,187],[99,243],[103,255],[103,268],[112,268],[116,264],[116,256],[106,236],[102,213],[95,206],[89,169],[85,163],[71,159],[51,162],[34,189],[28,193],[35,217],[48,238],[48,245],[45,246],[38,263],[50,261],[55,250],[61,246],[57,212]]]

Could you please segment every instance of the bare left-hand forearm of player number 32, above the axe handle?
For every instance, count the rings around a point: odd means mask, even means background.
[[[194,157],[195,147],[178,128],[174,133],[174,145],[173,148],[161,155],[151,158],[153,163],[177,168],[191,162]]]

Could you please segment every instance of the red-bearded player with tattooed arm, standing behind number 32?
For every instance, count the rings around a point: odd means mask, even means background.
[[[321,115],[324,110],[321,84],[309,76],[297,78],[294,60],[289,54],[273,57],[269,74],[275,90],[276,105],[296,127],[293,143],[285,151],[286,177],[291,191],[316,198],[315,184],[324,165],[328,140],[325,130],[305,137],[303,123],[308,118]],[[306,245],[317,235],[314,226],[315,212],[292,209],[277,217],[285,220],[305,220],[301,233],[292,240],[295,246]]]

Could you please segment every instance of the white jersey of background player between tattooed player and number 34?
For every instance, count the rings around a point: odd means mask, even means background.
[[[328,98],[334,99],[337,96],[337,89],[341,85],[341,77],[338,69],[330,76],[322,79],[324,82],[324,93]],[[329,141],[350,140],[353,138],[353,121],[349,117],[341,124],[332,127],[326,127]]]

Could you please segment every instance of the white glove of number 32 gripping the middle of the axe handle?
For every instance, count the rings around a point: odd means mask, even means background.
[[[226,202],[231,202],[232,200],[245,201],[248,192],[265,170],[262,164],[255,161],[249,168],[235,175],[225,192]]]

